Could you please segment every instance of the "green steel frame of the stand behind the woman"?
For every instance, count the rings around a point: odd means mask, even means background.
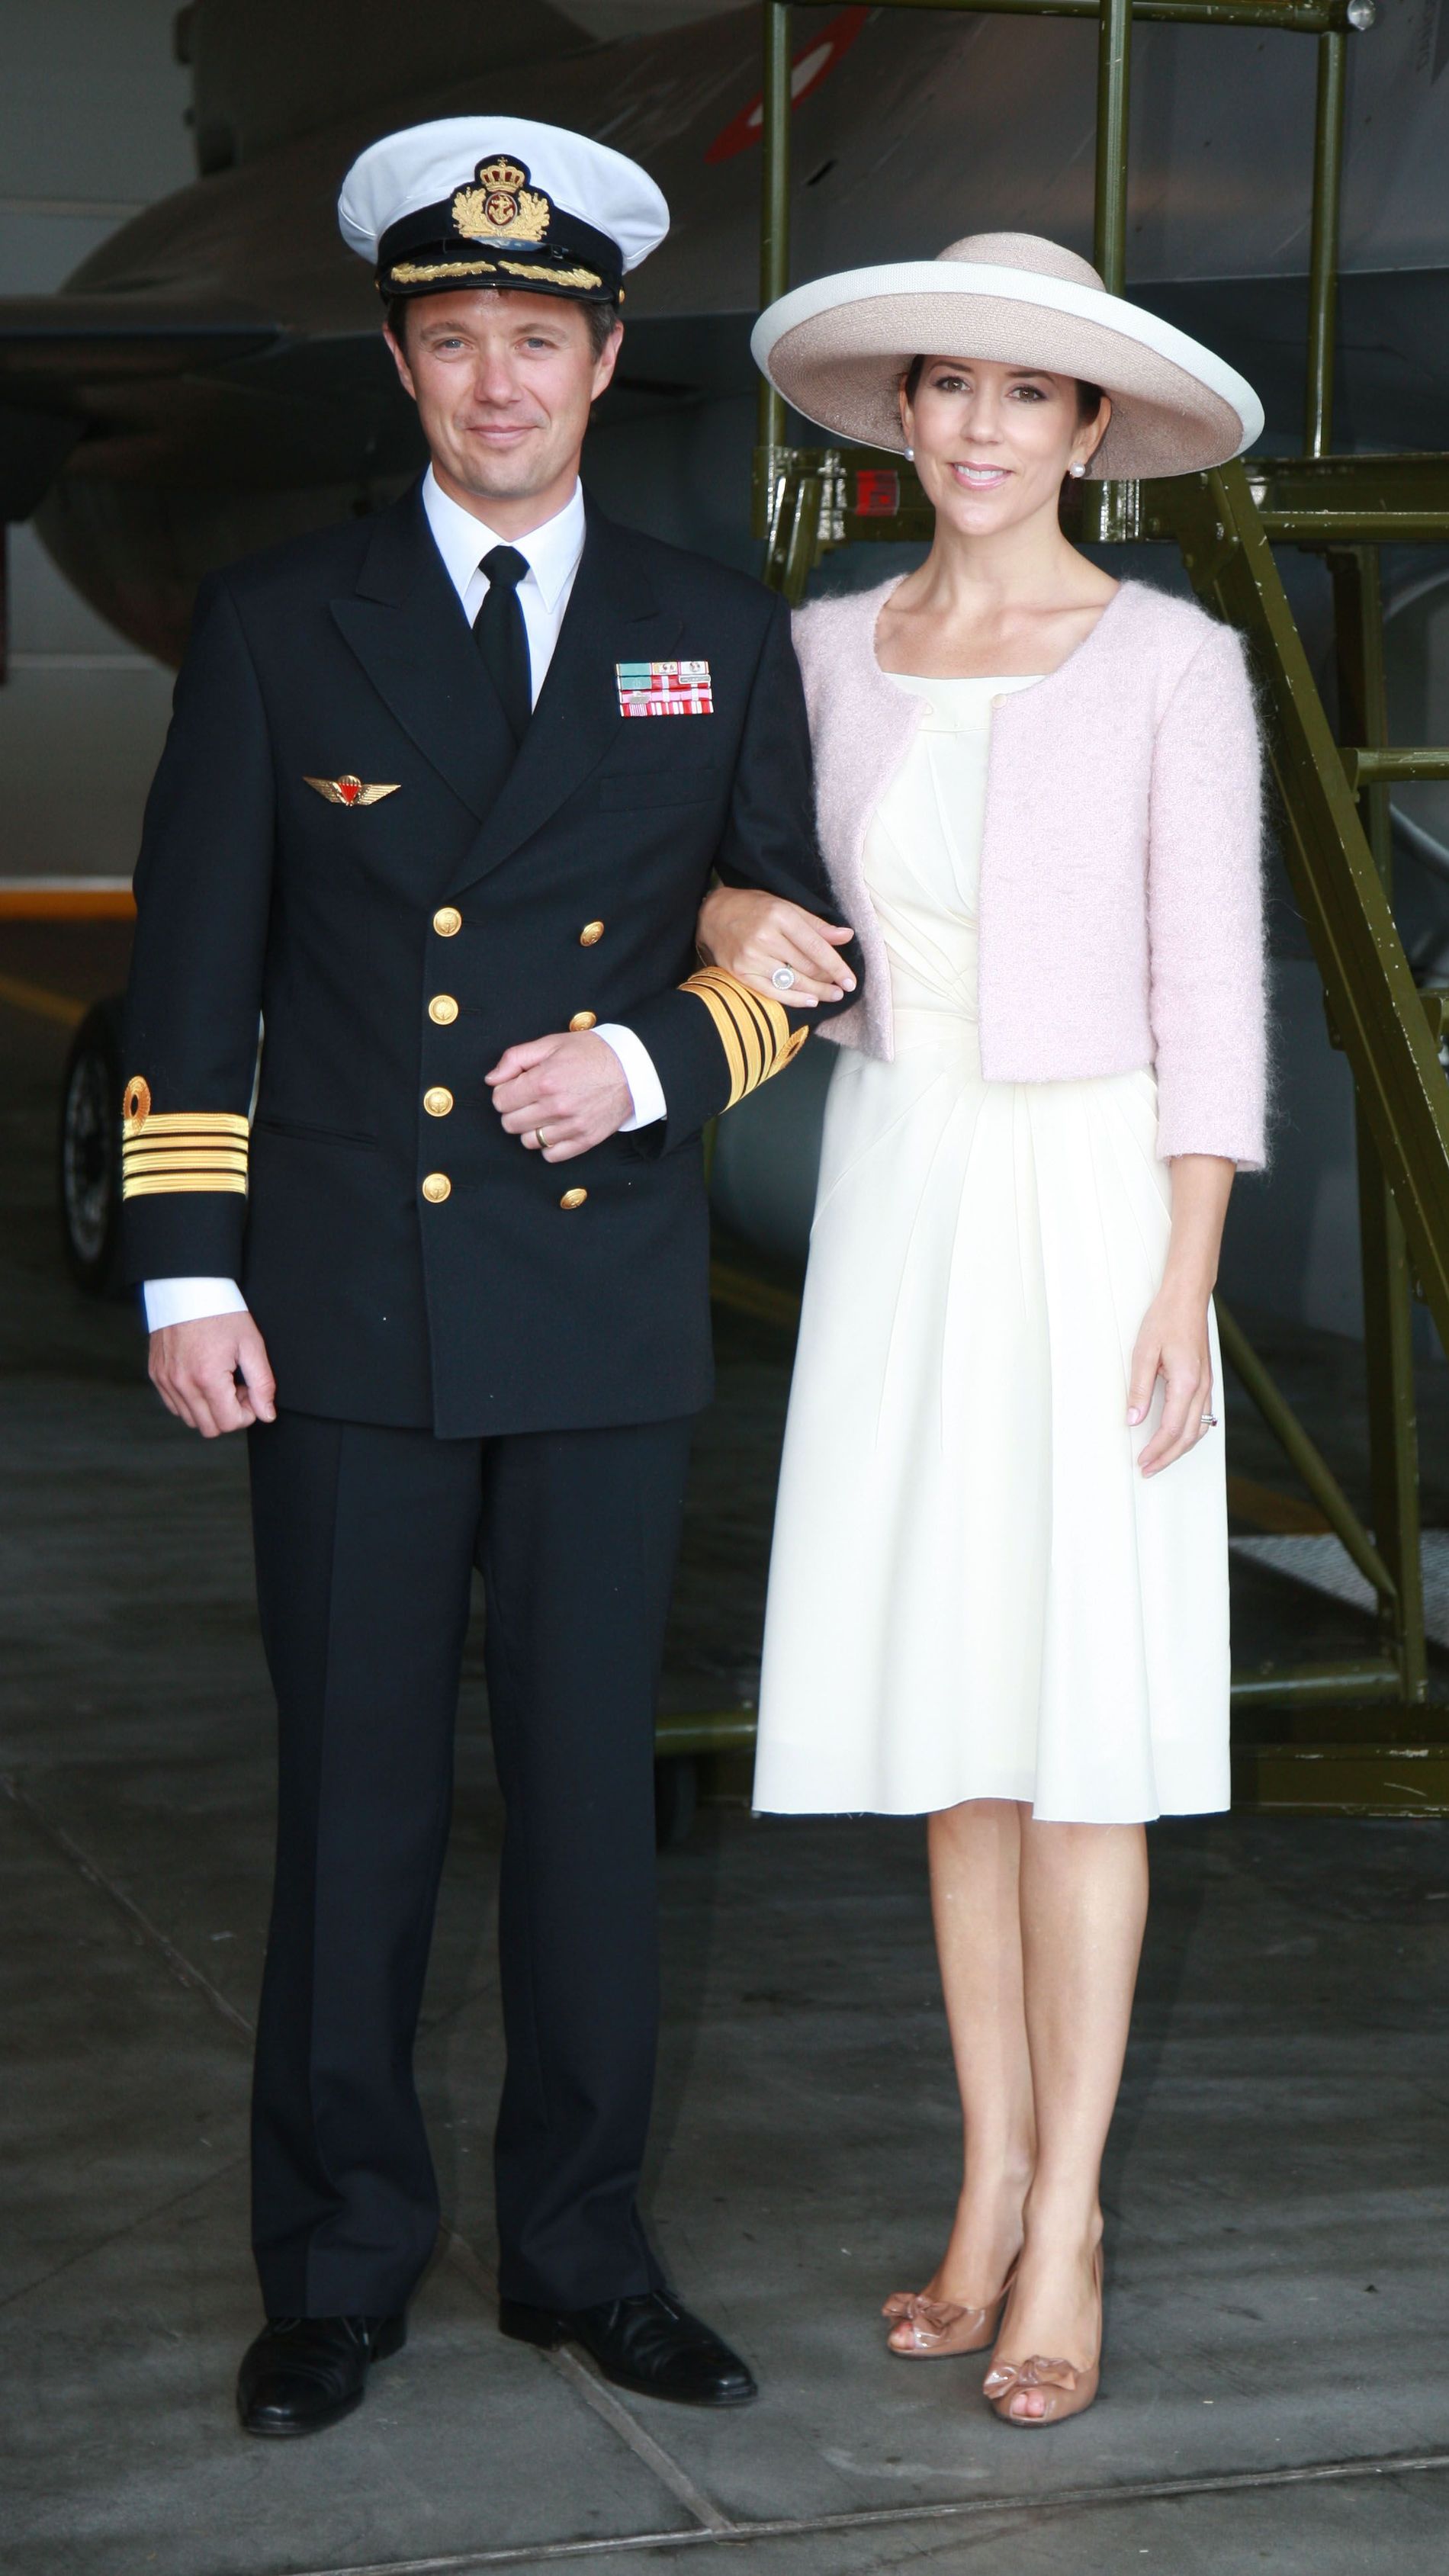
[[[802,0],[825,5],[825,0]],[[1379,1600],[1379,1651],[1356,1662],[1235,1674],[1235,1793],[1243,1803],[1333,1814],[1449,1814],[1449,1723],[1428,1705],[1418,1546],[1410,1324],[1415,1291],[1449,1347],[1446,997],[1418,992],[1392,914],[1387,786],[1449,778],[1449,750],[1387,739],[1379,546],[1449,538],[1446,456],[1333,456],[1333,332],[1343,178],[1346,0],[877,0],[1098,21],[1096,265],[1127,273],[1134,18],[1258,26],[1318,41],[1307,278],[1305,453],[1250,459],[1178,482],[1088,484],[1083,536],[1173,541],[1199,598],[1240,626],[1263,693],[1284,855],[1333,1043],[1356,1084],[1372,1533],[1333,1468],[1220,1309],[1227,1365],[1276,1435]],[[1354,0],[1359,15],[1361,0]],[[761,304],[789,286],[792,8],[763,5]],[[766,580],[799,600],[820,554],[869,538],[928,538],[910,466],[871,448],[786,443],[761,386],[755,531]],[[1297,634],[1274,546],[1325,559],[1336,608],[1336,739]],[[1263,1728],[1263,1718],[1269,1726]],[[678,1723],[668,1728],[670,1741]],[[748,1741],[748,1713],[696,1721],[678,1749]]]

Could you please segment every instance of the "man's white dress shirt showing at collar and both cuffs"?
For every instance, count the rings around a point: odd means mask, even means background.
[[[495,536],[487,520],[464,510],[456,500],[449,500],[433,474],[433,466],[428,466],[423,477],[423,513],[469,626],[477,618],[490,587],[487,574],[480,569],[482,556],[492,554],[495,546],[513,546],[521,556],[526,556],[529,572],[518,582],[518,608],[523,611],[523,634],[529,636],[529,670],[536,706],[539,690],[549,675],[549,662],[554,659],[559,626],[565,623],[565,608],[572,598],[583,556],[583,484],[575,482],[562,510],[557,510],[554,518],[547,518],[541,528],[529,528],[529,536]],[[629,1100],[634,1108],[624,1121],[621,1133],[632,1136],[634,1128],[652,1126],[655,1118],[665,1115],[665,1095],[650,1048],[634,1036],[632,1028],[621,1028],[616,1020],[601,1020],[593,1036],[603,1038],[603,1043],[616,1054],[624,1082],[629,1084]],[[248,1301],[235,1280],[209,1278],[147,1280],[144,1303],[147,1332],[162,1332],[168,1324],[199,1324],[201,1316],[209,1314],[248,1311]]]

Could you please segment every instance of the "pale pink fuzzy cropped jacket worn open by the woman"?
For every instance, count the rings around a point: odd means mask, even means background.
[[[820,848],[866,963],[820,1028],[892,1056],[890,961],[861,853],[920,701],[882,672],[895,590],[794,618]],[[1261,755],[1243,644],[1124,582],[1085,644],[993,716],[980,868],[987,1082],[1158,1069],[1158,1154],[1263,1164]]]

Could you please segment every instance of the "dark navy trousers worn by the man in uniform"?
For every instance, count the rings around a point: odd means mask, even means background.
[[[500,2290],[585,2308],[660,2285],[637,2208],[652,1741],[691,1427],[436,1440],[284,1412],[248,1435],[278,1700],[253,2094],[268,2316],[389,2316],[433,2254],[413,2040],[474,1566],[505,1806]]]

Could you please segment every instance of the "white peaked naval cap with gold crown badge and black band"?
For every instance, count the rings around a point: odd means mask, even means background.
[[[338,224],[387,296],[469,283],[616,296],[670,211],[639,162],[588,134],[438,116],[369,144],[343,180]]]

